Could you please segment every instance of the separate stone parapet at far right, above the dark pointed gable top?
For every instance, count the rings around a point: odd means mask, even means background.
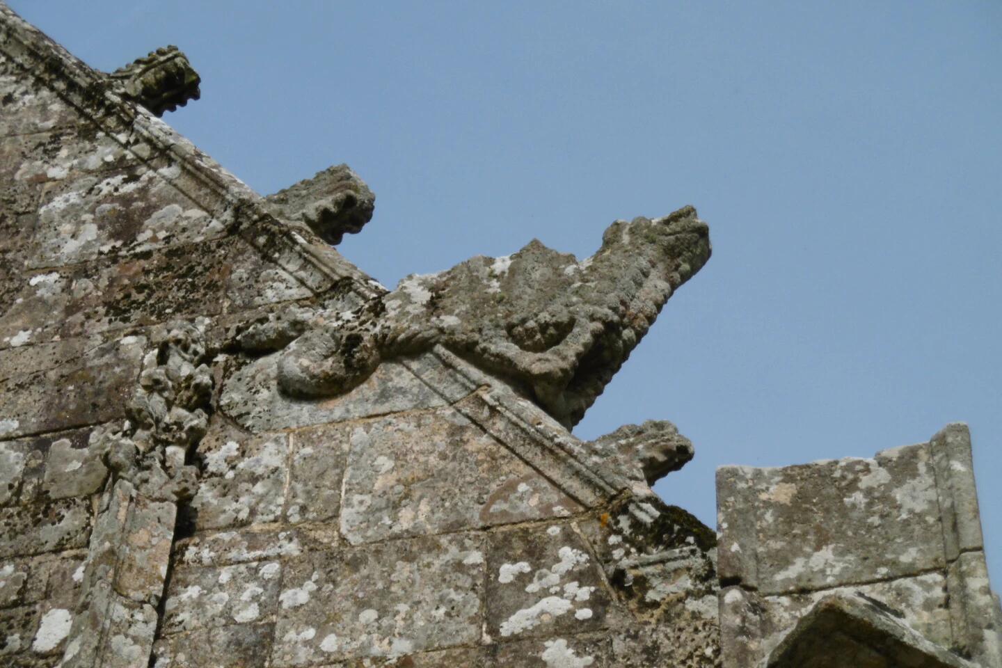
[[[966,425],[873,459],[723,467],[717,506],[724,665],[756,665],[817,602],[856,593],[1002,665]]]

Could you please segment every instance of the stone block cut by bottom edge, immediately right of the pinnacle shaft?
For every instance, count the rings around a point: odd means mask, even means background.
[[[161,638],[152,668],[265,668],[274,624],[233,624]]]

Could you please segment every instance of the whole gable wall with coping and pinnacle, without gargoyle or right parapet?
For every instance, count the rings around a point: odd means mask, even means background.
[[[630,469],[651,432],[583,444],[439,347],[290,399],[285,313],[382,287],[0,29],[3,665],[718,664],[715,539]]]

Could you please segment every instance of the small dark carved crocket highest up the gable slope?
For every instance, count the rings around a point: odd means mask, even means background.
[[[155,116],[173,111],[200,96],[201,77],[184,53],[170,45],[108,74],[117,92],[149,109]]]

